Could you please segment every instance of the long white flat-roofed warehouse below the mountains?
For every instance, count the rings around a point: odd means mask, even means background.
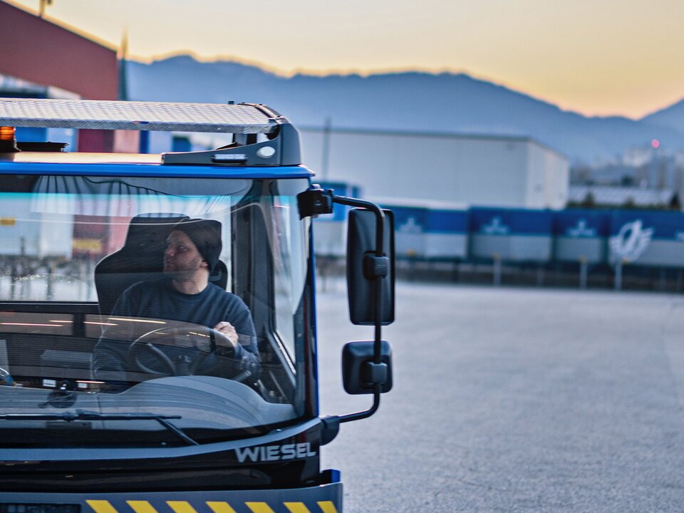
[[[569,160],[527,137],[303,128],[303,162],[364,197],[564,208]]]

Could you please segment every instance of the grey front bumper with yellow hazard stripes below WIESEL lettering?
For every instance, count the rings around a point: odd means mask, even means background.
[[[341,513],[342,483],[291,489],[0,493],[3,513]]]

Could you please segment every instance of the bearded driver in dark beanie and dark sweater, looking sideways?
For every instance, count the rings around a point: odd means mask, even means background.
[[[259,352],[252,315],[242,299],[209,282],[221,249],[218,221],[183,219],[178,222],[167,238],[164,277],[139,281],[126,289],[111,317],[172,319],[214,328],[228,339],[232,361],[237,361],[239,370],[257,378]],[[95,346],[95,375],[100,371],[135,371],[127,363],[130,343],[113,341],[107,337],[107,331]],[[153,358],[151,354],[148,356]]]

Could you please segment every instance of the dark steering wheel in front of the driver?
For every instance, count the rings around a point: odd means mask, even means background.
[[[128,347],[128,361],[137,371],[143,373],[155,376],[177,376],[197,374],[199,368],[202,367],[202,364],[212,354],[233,358],[237,343],[231,341],[224,333],[213,328],[200,328],[199,326],[196,330],[193,331],[193,328],[158,328],[148,331],[130,344]],[[177,343],[179,339],[183,342],[188,342],[197,341],[200,337],[203,343],[210,346],[209,351],[202,351],[202,349],[195,346],[185,346],[184,344]],[[155,343],[160,341],[173,341],[173,343],[167,345],[172,348],[185,347],[191,349],[196,355],[190,356],[188,354],[190,351],[187,351],[185,354],[179,354],[174,360],[155,345]],[[223,351],[217,351],[218,348],[222,348]],[[149,363],[145,363],[145,361],[149,362],[150,360],[160,365],[155,365],[154,367],[156,368],[152,368]],[[160,367],[162,370],[160,370]]]

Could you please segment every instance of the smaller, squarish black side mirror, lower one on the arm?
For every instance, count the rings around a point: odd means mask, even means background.
[[[380,393],[392,389],[392,348],[381,342],[380,363],[373,363],[374,341],[346,343],[342,350],[342,381],[349,394],[371,394],[380,383]]]

